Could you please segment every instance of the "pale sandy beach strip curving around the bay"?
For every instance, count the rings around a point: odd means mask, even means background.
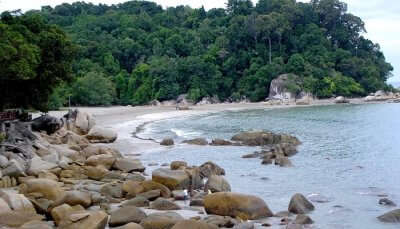
[[[382,103],[382,102],[380,102]],[[350,99],[348,104],[373,104],[363,102],[362,99]],[[258,103],[220,103],[190,106],[190,110],[179,111],[175,106],[137,106],[137,107],[73,107],[90,113],[97,120],[97,124],[110,128],[118,133],[118,139],[110,146],[120,150],[125,156],[137,153],[146,153],[154,150],[165,149],[159,142],[151,137],[149,139],[136,136],[142,133],[146,126],[158,121],[187,118],[190,116],[213,114],[226,111],[243,111],[258,109],[285,109],[295,107],[329,106],[336,104],[334,99],[314,100],[308,105],[296,105],[295,103],[283,105],[271,105],[268,102]],[[63,111],[51,112],[56,117]],[[133,151],[133,152],[132,152]]]

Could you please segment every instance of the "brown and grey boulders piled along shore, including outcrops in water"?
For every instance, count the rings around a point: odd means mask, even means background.
[[[6,147],[0,156],[0,228],[316,228],[307,215],[315,207],[302,194],[288,199],[287,209],[272,212],[268,200],[231,192],[225,170],[211,161],[174,161],[147,174],[135,155],[107,145],[117,134],[86,112],[55,133],[14,136],[20,149]],[[292,165],[288,158],[300,144],[293,136],[263,131],[186,143],[261,146],[243,157],[282,167]],[[378,219],[399,222],[399,211]]]

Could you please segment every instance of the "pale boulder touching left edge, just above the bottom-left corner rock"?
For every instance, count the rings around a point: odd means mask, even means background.
[[[18,212],[29,212],[36,214],[36,210],[32,203],[21,194],[15,194],[11,191],[0,190],[0,200],[7,205],[0,203],[0,213],[7,212],[9,209]],[[4,208],[2,209],[1,206]]]

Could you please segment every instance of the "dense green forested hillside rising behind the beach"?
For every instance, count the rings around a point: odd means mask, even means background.
[[[75,83],[56,90],[75,104],[145,104],[188,93],[193,100],[268,96],[272,79],[318,97],[387,89],[392,66],[366,39],[363,21],[338,0],[229,0],[226,9],[162,9],[130,1],[43,7],[78,46]]]

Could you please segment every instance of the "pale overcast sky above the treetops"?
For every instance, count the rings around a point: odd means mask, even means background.
[[[124,0],[86,0],[95,4],[117,4]],[[206,9],[225,7],[225,0],[152,0],[163,7],[176,5],[204,6]],[[253,0],[257,1],[257,0]],[[298,0],[308,2],[308,0]],[[361,17],[367,29],[366,36],[379,43],[388,62],[395,68],[390,81],[400,81],[400,3],[399,0],[342,0],[349,11]],[[41,6],[55,6],[75,0],[0,0],[0,12],[5,10],[40,9]]]

